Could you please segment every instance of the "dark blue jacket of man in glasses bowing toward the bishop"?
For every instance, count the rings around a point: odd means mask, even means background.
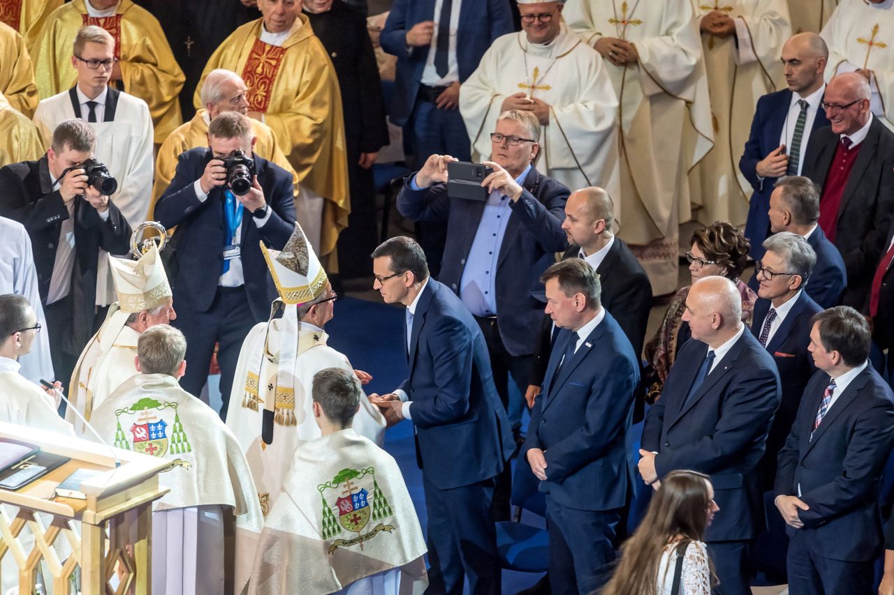
[[[500,473],[515,443],[485,337],[460,298],[434,279],[416,305],[408,364],[400,388],[413,403],[409,415],[426,479],[450,490]]]

